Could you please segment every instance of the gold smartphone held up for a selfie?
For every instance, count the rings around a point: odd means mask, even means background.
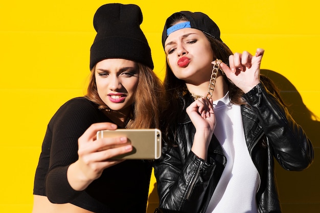
[[[103,137],[127,137],[133,147],[131,152],[118,155],[117,159],[158,159],[161,157],[161,131],[159,129],[117,129],[97,132]]]

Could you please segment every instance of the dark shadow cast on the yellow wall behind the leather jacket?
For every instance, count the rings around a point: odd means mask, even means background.
[[[271,78],[279,87],[283,101],[293,119],[304,129],[314,148],[314,162],[310,168],[302,172],[286,171],[276,165],[276,175],[283,213],[316,213],[320,209],[320,154],[318,134],[320,121],[303,103],[300,93],[284,76],[272,70],[261,69],[261,74]],[[149,196],[147,213],[153,213],[158,205],[157,184]]]

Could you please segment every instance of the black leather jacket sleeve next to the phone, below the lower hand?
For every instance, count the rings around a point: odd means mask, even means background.
[[[159,207],[194,213],[201,207],[215,165],[184,149],[164,146],[167,151],[154,165]]]

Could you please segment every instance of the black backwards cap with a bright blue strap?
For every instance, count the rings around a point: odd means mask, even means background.
[[[189,22],[178,23],[172,25],[172,21],[175,21],[177,17],[186,16]],[[203,33],[222,41],[220,38],[220,30],[216,23],[206,14],[201,12],[180,11],[173,13],[166,20],[164,31],[162,33],[162,45],[165,47],[165,42],[170,33],[182,29],[182,28],[194,28],[202,31]]]

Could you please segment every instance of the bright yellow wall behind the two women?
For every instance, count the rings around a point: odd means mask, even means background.
[[[211,2],[211,3],[210,3]],[[110,1],[2,1],[0,4],[0,211],[31,212],[35,168],[47,124],[68,99],[83,96],[96,9]],[[320,130],[319,5],[317,1],[121,1],[138,4],[155,72],[164,76],[161,33],[166,17],[180,10],[209,14],[234,51],[264,48],[262,68],[274,76],[290,110],[315,147],[304,172],[277,166],[284,212],[318,212]],[[264,71],[266,72],[266,71]],[[315,116],[311,116],[310,112]],[[281,143],[281,141],[280,141]],[[150,193],[153,192],[154,179]],[[157,197],[150,196],[148,212]]]

